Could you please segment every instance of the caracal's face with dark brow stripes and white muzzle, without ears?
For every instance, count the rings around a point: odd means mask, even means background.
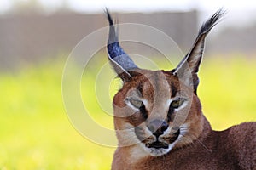
[[[172,71],[138,72],[113,99],[119,145],[138,144],[148,155],[161,156],[196,139],[202,117],[193,88]]]

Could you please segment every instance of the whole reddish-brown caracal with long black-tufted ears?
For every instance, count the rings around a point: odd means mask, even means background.
[[[108,59],[123,81],[113,98],[119,147],[113,170],[256,169],[256,123],[212,131],[196,90],[205,37],[224,14],[202,26],[189,53],[172,71],[137,67],[119,46],[109,21]]]

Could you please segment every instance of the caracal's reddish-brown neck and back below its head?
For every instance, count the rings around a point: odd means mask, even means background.
[[[253,128],[255,124],[243,123],[216,132],[205,120],[204,132],[193,144],[172,150],[165,156],[148,156],[135,164],[127,162],[125,150],[117,150],[113,169],[255,169],[256,134]]]

